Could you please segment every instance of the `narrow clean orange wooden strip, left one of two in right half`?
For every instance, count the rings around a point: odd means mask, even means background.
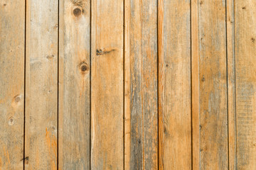
[[[199,169],[199,54],[198,0],[191,1],[191,94],[192,94],[192,166]]]

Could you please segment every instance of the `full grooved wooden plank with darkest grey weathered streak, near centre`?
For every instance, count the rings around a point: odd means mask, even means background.
[[[128,153],[124,167],[157,169],[157,1],[132,0],[126,6],[125,19],[129,21],[125,26],[129,30],[125,32],[124,74],[129,90],[125,94],[128,106],[124,107],[128,108],[125,124],[129,123],[125,132],[130,135],[125,138],[129,144],[124,151]]]

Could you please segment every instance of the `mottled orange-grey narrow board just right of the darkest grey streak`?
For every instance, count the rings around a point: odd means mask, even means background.
[[[142,1],[142,169],[158,168],[157,0]]]

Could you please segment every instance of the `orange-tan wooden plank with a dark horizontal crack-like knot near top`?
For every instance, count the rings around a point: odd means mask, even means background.
[[[92,1],[91,29],[91,167],[123,169],[124,1]]]

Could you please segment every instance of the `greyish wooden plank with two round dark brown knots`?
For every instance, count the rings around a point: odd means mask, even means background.
[[[59,169],[90,169],[90,0],[60,3]]]

